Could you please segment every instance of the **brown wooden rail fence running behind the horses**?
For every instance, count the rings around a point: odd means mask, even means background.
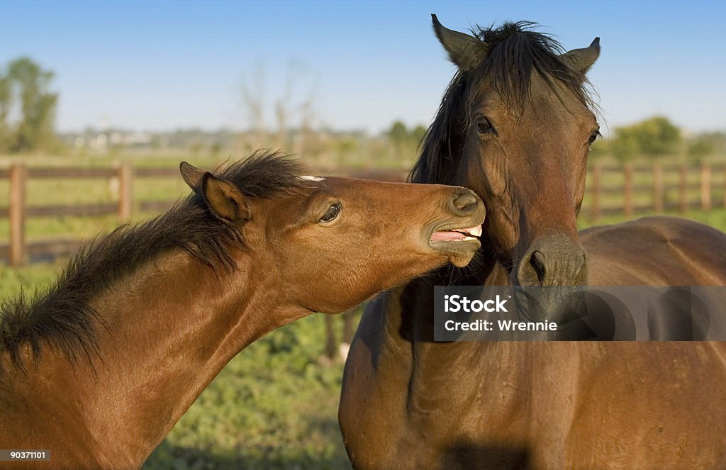
[[[338,170],[339,171],[339,170]],[[332,174],[322,171],[320,174]],[[354,177],[403,181],[404,171],[356,170]],[[28,206],[26,191],[30,179],[117,179],[118,190],[113,202],[80,203],[73,206]],[[25,224],[33,217],[102,216],[116,214],[121,222],[131,220],[134,208],[160,212],[171,207],[174,200],[134,201],[134,180],[139,178],[179,178],[175,168],[134,168],[121,163],[116,168],[28,168],[16,163],[0,169],[0,179],[9,179],[9,205],[0,206],[0,218],[9,219],[9,243],[0,244],[13,266],[22,266],[32,256],[69,254],[76,251],[81,240],[57,238],[28,243]],[[134,205],[135,203],[135,205]],[[595,163],[588,170],[587,191],[582,206],[583,216],[597,222],[603,216],[622,214],[626,217],[645,213],[677,211],[685,214],[694,209],[709,210],[726,207],[726,166],[682,166],[674,164],[606,166]]]

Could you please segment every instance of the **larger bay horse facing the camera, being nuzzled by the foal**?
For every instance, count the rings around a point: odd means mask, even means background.
[[[368,304],[338,413],[352,465],[726,468],[724,343],[433,341],[434,285],[726,285],[726,235],[703,224],[576,231],[599,39],[563,52],[531,23],[433,25],[458,70],[410,179],[475,190],[482,250]]]

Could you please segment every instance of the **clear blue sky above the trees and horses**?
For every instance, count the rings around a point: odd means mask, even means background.
[[[611,129],[661,114],[726,130],[725,4],[719,1],[7,1],[0,64],[54,70],[62,131],[248,126],[242,89],[269,123],[290,89],[295,123],[377,132],[428,125],[454,73],[431,31],[531,20],[567,49],[600,36],[590,72]]]

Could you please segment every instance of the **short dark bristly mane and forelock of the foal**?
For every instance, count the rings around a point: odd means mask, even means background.
[[[250,198],[272,198],[309,185],[299,177],[302,167],[288,155],[257,152],[232,163],[218,175]],[[231,246],[245,247],[242,232],[214,216],[202,196],[192,193],[160,216],[134,226],[119,227],[86,243],[58,280],[28,299],[22,291],[0,304],[0,354],[25,370],[22,350],[29,345],[40,360],[46,341],[71,362],[97,353],[96,327],[103,324],[91,299],[131,275],[142,264],[171,250],[183,250],[213,270],[234,270]],[[1,371],[1,365],[0,365]]]

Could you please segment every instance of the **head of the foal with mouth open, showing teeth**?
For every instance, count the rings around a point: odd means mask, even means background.
[[[280,168],[280,158],[268,158],[251,178],[187,164],[182,174],[214,216],[239,230],[238,264],[273,279],[278,292],[288,286],[289,304],[342,312],[447,262],[464,266],[481,246],[484,204],[471,190],[299,177],[298,167],[283,179]],[[277,187],[256,190],[271,184],[261,174],[277,174]]]

